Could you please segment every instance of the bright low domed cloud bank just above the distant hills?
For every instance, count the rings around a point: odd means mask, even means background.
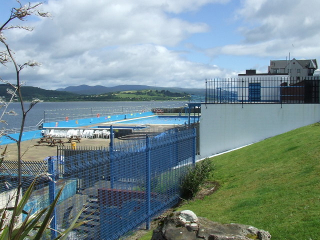
[[[38,70],[39,87],[50,80],[52,88],[61,85],[144,84],[204,88],[206,77],[227,74],[216,66],[183,60],[175,52],[159,45],[122,46],[111,50],[85,53],[78,58],[66,58],[52,65],[43,64]],[[58,80],[56,80],[58,78]],[[63,82],[67,80],[67,82]],[[63,83],[62,83],[63,82]]]

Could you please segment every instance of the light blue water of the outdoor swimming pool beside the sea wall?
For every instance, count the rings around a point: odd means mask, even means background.
[[[195,121],[197,121],[197,117],[195,117]],[[190,117],[190,122],[194,122],[194,117]],[[131,120],[122,120],[117,121],[116,123],[127,123],[127,124],[187,124],[188,117],[187,116],[149,116],[149,117],[141,117]]]

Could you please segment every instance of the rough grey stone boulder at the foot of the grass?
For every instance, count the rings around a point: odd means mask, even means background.
[[[269,240],[268,231],[256,227],[230,223],[221,224],[204,217],[197,217],[192,211],[175,211],[162,218],[153,230],[151,240]]]

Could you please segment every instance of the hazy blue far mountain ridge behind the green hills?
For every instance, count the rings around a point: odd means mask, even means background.
[[[130,91],[130,90],[168,90],[170,92],[186,92],[194,95],[205,95],[205,89],[200,88],[181,88],[181,87],[159,87],[159,86],[147,86],[147,85],[118,85],[118,86],[88,86],[88,85],[79,85],[79,86],[68,86],[65,88],[58,88],[57,91],[67,91],[77,94],[102,94],[109,92],[117,91]]]

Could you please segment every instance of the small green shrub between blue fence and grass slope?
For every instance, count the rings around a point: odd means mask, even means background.
[[[213,170],[214,165],[209,158],[190,166],[181,180],[181,196],[186,199],[192,198],[200,190],[205,180],[212,175]]]

